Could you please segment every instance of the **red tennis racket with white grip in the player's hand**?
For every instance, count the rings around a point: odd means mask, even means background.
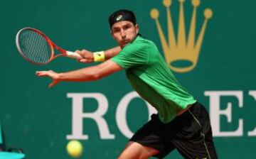
[[[64,50],[53,43],[48,36],[35,28],[22,28],[16,35],[18,53],[35,65],[46,65],[56,57],[82,59],[78,53]],[[54,50],[60,53],[55,54]]]

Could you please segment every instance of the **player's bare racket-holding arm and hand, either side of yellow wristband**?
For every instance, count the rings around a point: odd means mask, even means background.
[[[105,60],[109,60],[111,57],[117,55],[120,51],[121,48],[119,46],[105,50]],[[90,63],[95,61],[93,53],[88,50],[76,50],[75,52],[79,53],[83,57],[82,60],[79,60],[80,62]]]

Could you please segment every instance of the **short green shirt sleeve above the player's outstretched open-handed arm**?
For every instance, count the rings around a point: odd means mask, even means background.
[[[130,43],[126,45],[121,52],[112,57],[112,61],[123,69],[145,65],[148,62],[148,48],[146,43]]]

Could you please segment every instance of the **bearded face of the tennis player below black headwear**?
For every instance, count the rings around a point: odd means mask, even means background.
[[[119,21],[112,26],[111,34],[121,48],[131,43],[139,33],[139,27],[130,21]]]

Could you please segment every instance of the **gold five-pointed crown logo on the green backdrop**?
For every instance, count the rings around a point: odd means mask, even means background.
[[[159,11],[157,9],[151,9],[150,16],[156,21],[156,28],[159,32],[161,45],[164,50],[164,57],[169,64],[171,70],[175,72],[188,72],[196,67],[198,57],[200,54],[201,45],[203,42],[203,36],[206,31],[208,19],[213,16],[211,9],[205,9],[205,20],[203,26],[196,40],[196,9],[200,5],[200,0],[192,0],[193,13],[191,16],[191,24],[188,33],[188,39],[186,39],[186,27],[184,21],[183,3],[185,0],[178,0],[180,3],[179,19],[178,19],[178,37],[176,39],[174,34],[174,26],[171,19],[171,0],[164,0],[164,6],[167,11],[167,25],[168,25],[168,42],[164,36],[164,32],[159,23]],[[185,66],[178,66],[178,62],[183,62]],[[188,65],[189,64],[189,65]]]

